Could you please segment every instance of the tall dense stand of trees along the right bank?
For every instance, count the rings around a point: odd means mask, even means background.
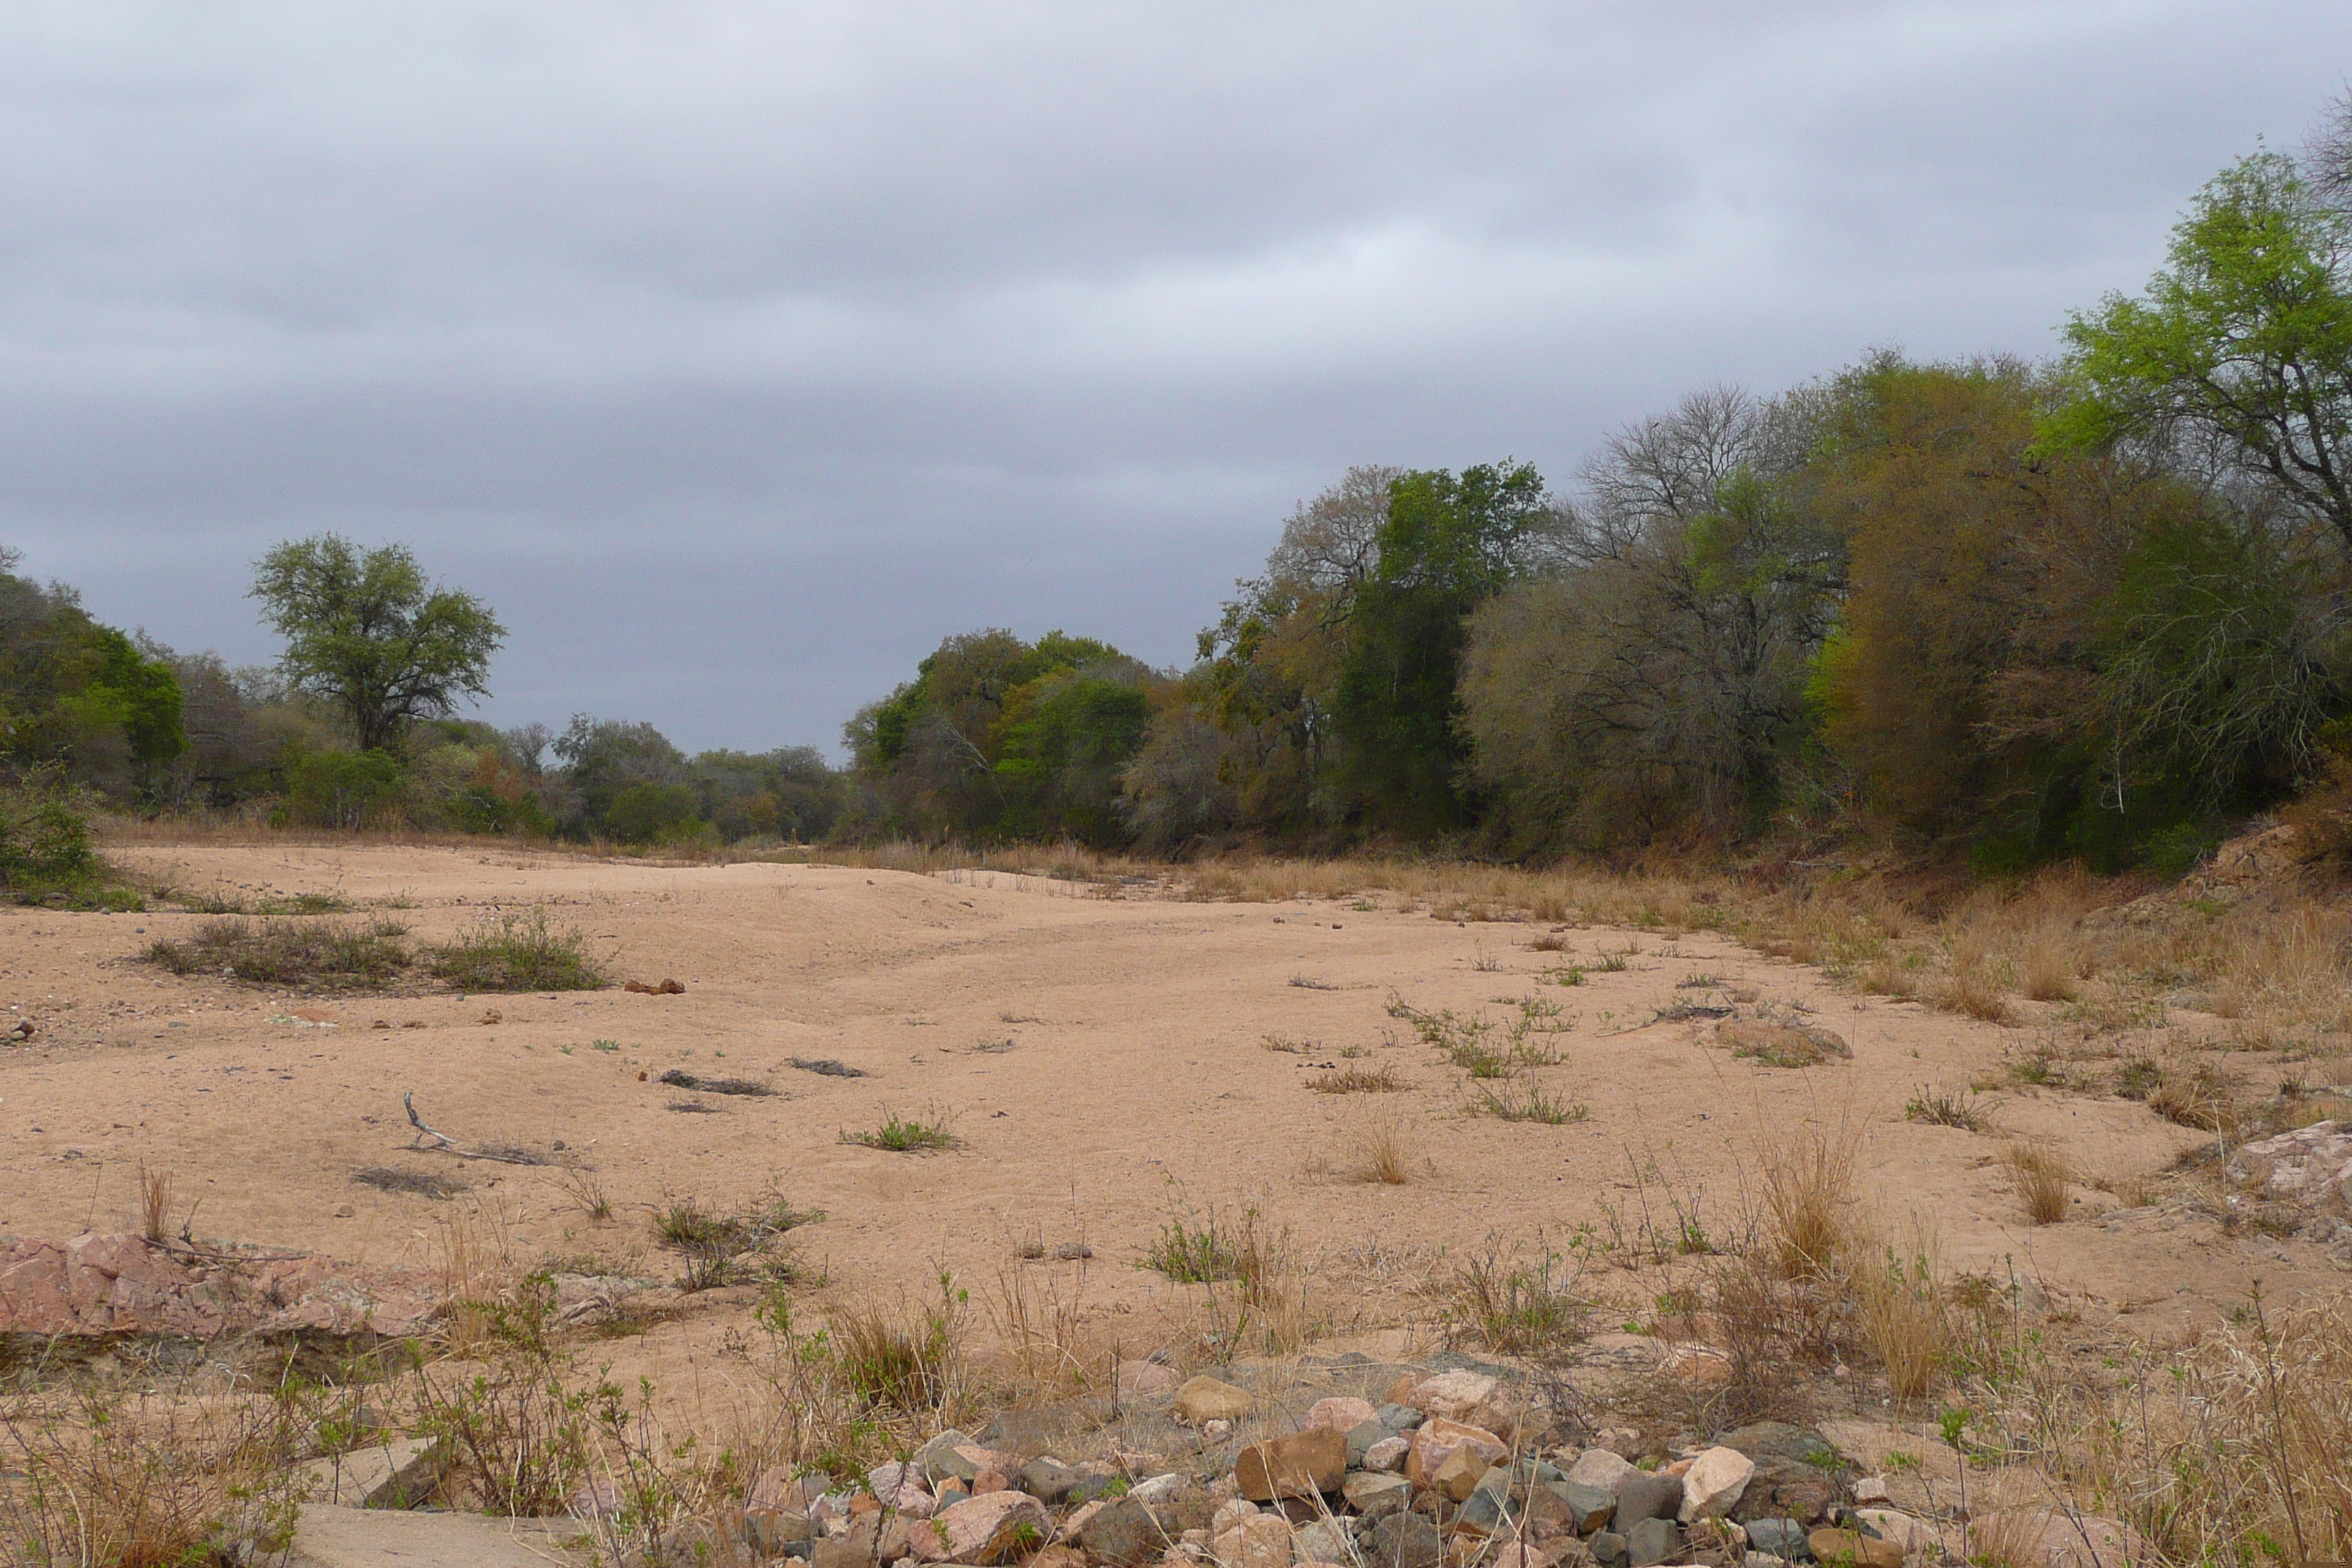
[[[2227,169],[2053,364],[1708,388],[1566,487],[1352,470],[1183,672],[953,637],[849,726],[851,820],[2185,865],[2347,750],[2347,183],[2343,139]]]

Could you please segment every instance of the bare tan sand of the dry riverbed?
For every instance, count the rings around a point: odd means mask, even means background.
[[[198,1234],[430,1262],[437,1220],[461,1204],[353,1185],[360,1166],[442,1171],[506,1227],[522,1260],[644,1246],[663,1194],[713,1204],[760,1190],[826,1211],[797,1232],[835,1286],[927,1291],[938,1269],[990,1281],[1025,1241],[1094,1248],[1098,1312],[1148,1312],[1169,1286],[1131,1267],[1167,1218],[1256,1204],[1289,1225],[1327,1300],[1395,1293],[1439,1258],[1489,1239],[1526,1251],[1672,1187],[1729,1234],[1762,1152],[1806,1119],[1858,1147],[1860,1192],[1889,1222],[1926,1215],[1950,1267],[2016,1269],[2091,1321],[2154,1331],[2225,1312],[2260,1276],[2274,1298],[2340,1288],[2317,1248],[2225,1237],[2192,1213],[2136,1211],[2079,1187],[2072,1220],[2032,1227],[1994,1159],[1997,1138],[1903,1119],[1922,1086],[1999,1072],[2034,1030],[1863,999],[1818,971],[1715,936],[1451,924],[1357,903],[1200,905],[1091,889],[811,865],[659,867],[452,849],[134,849],[179,886],[339,891],[400,900],[419,938],[485,910],[548,903],[609,954],[616,978],[675,976],[682,997],[621,990],[522,997],[294,997],[181,980],[139,959],[195,914],[0,910],[0,1009],[33,1018],[0,1048],[0,1234],[129,1222],[136,1171],[172,1171],[200,1199]],[[1618,973],[1545,983],[1566,961],[1630,952]],[[1686,985],[1708,978],[1712,985]],[[1750,997],[1813,1009],[1851,1063],[1759,1070],[1705,1044],[1705,1020],[1658,1020],[1675,1001]],[[1550,1093],[1581,1100],[1569,1126],[1465,1114],[1468,1086],[1392,1020],[1545,997],[1573,1027]],[[294,1016],[296,1006],[327,1023]],[[492,1023],[492,1013],[496,1020]],[[388,1030],[374,1027],[376,1023]],[[412,1027],[421,1025],[421,1027]],[[1265,1048],[1312,1039],[1312,1056]],[[616,1048],[600,1048],[607,1041]],[[1324,1095],[1308,1081],[1362,1048],[1406,1093]],[[837,1058],[835,1079],[790,1058]],[[755,1077],[767,1100],[684,1095],[666,1067]],[[409,1152],[400,1093],[466,1143],[510,1140],[590,1161],[621,1204],[590,1225],[546,1171]],[[2164,1168],[2197,1135],[2143,1105],[2002,1091],[2002,1131],[2056,1143],[2089,1180]],[[668,1110],[680,1100],[715,1114]],[[887,1112],[943,1112],[962,1147],[889,1154],[842,1131]],[[1374,1117],[1402,1119],[1428,1168],[1406,1187],[1319,1173]],[[1637,1182],[1635,1171],[1651,1173]],[[668,1272],[659,1258],[649,1267]],[[689,1333],[673,1326],[677,1333]]]

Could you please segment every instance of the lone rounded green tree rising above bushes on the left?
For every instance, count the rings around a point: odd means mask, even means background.
[[[358,750],[388,750],[412,719],[489,691],[506,628],[487,604],[426,583],[407,545],[360,550],[341,534],[287,541],[254,567],[252,597],[287,639],[287,682],[334,701]]]

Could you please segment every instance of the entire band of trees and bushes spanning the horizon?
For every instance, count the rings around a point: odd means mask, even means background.
[[[2352,788],[2352,113],[2199,193],[2053,362],[1705,388],[1566,482],[1357,468],[1185,670],[948,637],[809,748],[459,717],[503,642],[393,545],[280,545],[230,670],[0,557],[0,764],[148,811],[623,844],[1080,839],[1498,856],[1865,827],[2187,865]]]

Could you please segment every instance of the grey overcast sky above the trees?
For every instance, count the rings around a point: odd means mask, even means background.
[[[938,637],[1183,663],[1350,463],[2049,353],[2343,0],[0,2],[0,543],[259,661],[407,541],[487,717],[816,743]]]

